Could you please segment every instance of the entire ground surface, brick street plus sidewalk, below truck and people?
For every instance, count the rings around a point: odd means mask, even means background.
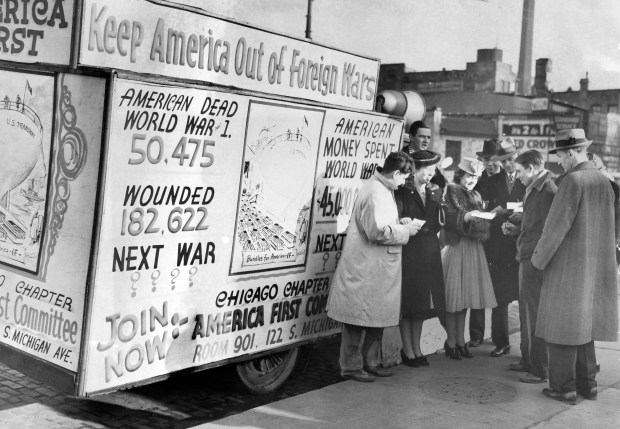
[[[232,383],[232,368],[216,368],[75,399],[0,365],[0,427],[618,427],[620,343],[597,343],[598,401],[562,404],[541,395],[545,385],[520,383],[518,373],[506,370],[519,355],[517,312],[511,305],[513,348],[502,358],[489,356],[493,346],[487,341],[472,349],[474,359],[455,362],[434,354],[429,368],[401,365],[392,378],[360,384],[339,377],[334,336],[303,348],[290,379],[265,396]]]

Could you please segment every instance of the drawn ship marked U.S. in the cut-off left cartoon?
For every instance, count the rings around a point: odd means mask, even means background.
[[[27,88],[31,90],[29,84]],[[43,126],[39,116],[24,100],[8,96],[0,100],[0,241],[23,245],[29,227],[15,216],[11,207],[11,191],[30,176],[42,155]],[[43,201],[35,188],[34,179],[21,195],[33,202]]]

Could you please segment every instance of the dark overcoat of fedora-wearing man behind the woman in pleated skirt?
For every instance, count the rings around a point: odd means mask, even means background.
[[[508,173],[502,169],[489,177],[487,184],[488,210],[497,206],[507,209],[508,202],[523,201],[525,186],[515,178],[512,190],[508,186]],[[519,298],[519,262],[516,260],[516,238],[504,235],[502,224],[510,213],[504,211],[491,221],[491,238],[484,242],[484,251],[489,262],[493,290],[498,304],[505,304]]]

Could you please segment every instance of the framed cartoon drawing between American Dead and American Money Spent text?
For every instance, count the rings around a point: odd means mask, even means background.
[[[231,273],[305,263],[323,115],[250,104]]]

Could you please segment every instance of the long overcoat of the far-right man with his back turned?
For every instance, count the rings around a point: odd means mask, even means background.
[[[560,183],[532,255],[544,270],[536,336],[573,346],[617,340],[614,247],[612,188],[583,162]]]

